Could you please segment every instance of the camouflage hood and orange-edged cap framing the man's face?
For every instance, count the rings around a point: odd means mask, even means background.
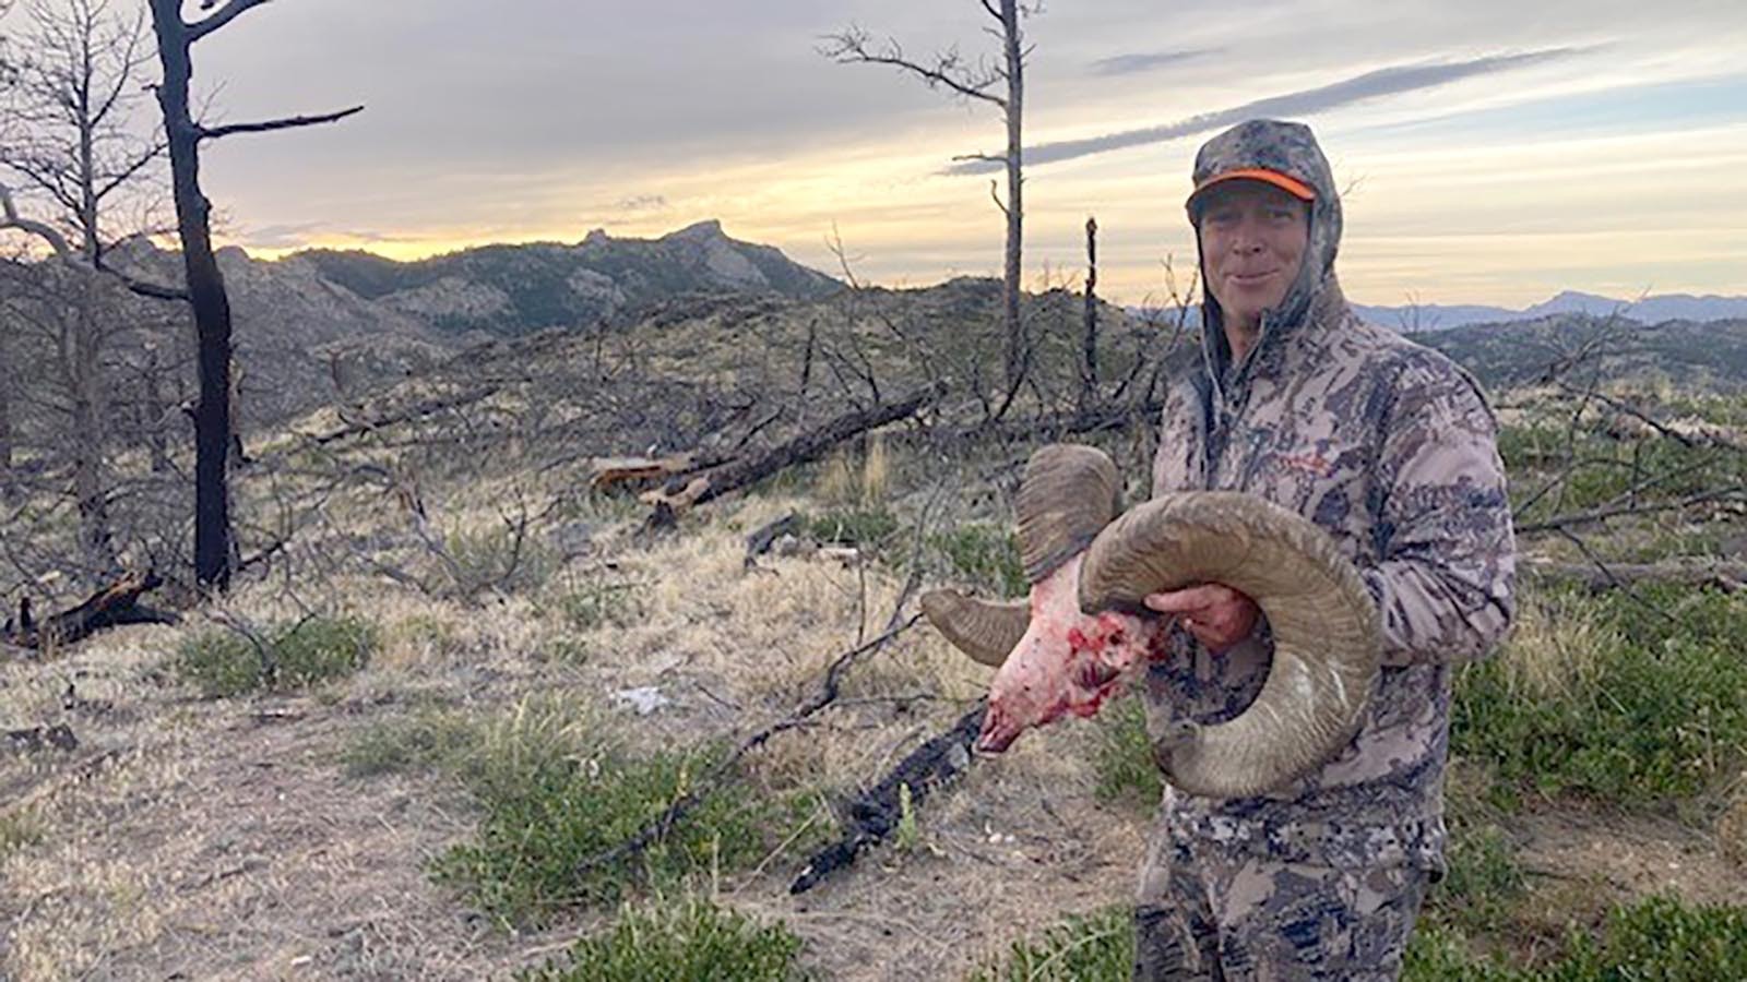
[[[1256,346],[1263,348],[1270,339],[1295,328],[1310,309],[1310,301],[1326,281],[1331,281],[1335,253],[1340,250],[1340,194],[1335,190],[1335,173],[1310,128],[1275,119],[1240,122],[1204,143],[1195,154],[1195,187],[1200,189],[1223,173],[1253,168],[1282,173],[1315,190],[1315,201],[1310,204],[1310,246],[1305,250],[1303,266],[1286,292],[1286,299],[1277,309],[1261,315],[1261,335]],[[1200,215],[1197,204],[1195,196],[1190,196],[1190,224],[1195,225],[1198,250]],[[1202,259],[1202,283],[1205,281],[1207,264]],[[1202,297],[1202,323],[1207,325],[1202,334],[1204,344],[1211,344],[1209,363],[1225,365],[1225,332],[1212,330],[1223,325],[1219,301],[1205,290]]]

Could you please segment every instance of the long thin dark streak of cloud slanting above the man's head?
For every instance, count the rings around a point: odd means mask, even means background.
[[[1025,163],[1052,164],[1057,161],[1071,161],[1074,157],[1085,157],[1090,154],[1102,154],[1106,150],[1123,150],[1127,147],[1162,143],[1165,140],[1177,140],[1181,136],[1191,136],[1195,133],[1219,129],[1254,117],[1310,115],[1315,112],[1331,110],[1363,100],[1375,100],[1378,96],[1392,96],[1399,93],[1410,93],[1415,89],[1429,89],[1434,86],[1447,86],[1450,82],[1457,82],[1460,79],[1469,79],[1474,75],[1487,75],[1490,72],[1504,72],[1509,68],[1525,68],[1529,65],[1539,65],[1543,61],[1555,61],[1560,58],[1569,58],[1572,54],[1578,54],[1579,51],[1583,49],[1551,47],[1544,51],[1529,51],[1523,54],[1492,54],[1487,58],[1474,58],[1469,61],[1452,61],[1443,65],[1391,65],[1389,68],[1378,68],[1375,72],[1366,72],[1364,75],[1354,75],[1352,79],[1343,79],[1329,86],[1303,89],[1300,93],[1288,93],[1284,96],[1270,96],[1265,100],[1256,100],[1251,103],[1244,103],[1240,107],[1232,107],[1218,112],[1204,112],[1200,115],[1191,115],[1188,119],[1179,119],[1177,122],[1167,122],[1164,126],[1148,126],[1144,129],[1123,129],[1122,133],[1088,136],[1085,140],[1062,140],[1059,143],[1039,143],[1036,147],[1025,147]],[[964,161],[947,168],[943,173],[977,175],[977,173],[999,171],[1001,168],[1003,164],[999,161]]]

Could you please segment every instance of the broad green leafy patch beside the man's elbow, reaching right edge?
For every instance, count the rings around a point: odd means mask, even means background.
[[[1464,667],[1452,750],[1523,792],[1625,806],[1691,799],[1731,774],[1747,757],[1747,599],[1639,592],[1649,610],[1618,591],[1590,601],[1604,641],[1560,692],[1525,694],[1509,652]]]

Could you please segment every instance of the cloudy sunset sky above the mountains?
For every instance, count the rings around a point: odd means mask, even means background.
[[[999,175],[954,157],[999,110],[825,58],[851,24],[998,54],[977,0],[274,0],[197,45],[210,117],[365,110],[210,145],[206,190],[259,255],[718,218],[865,281],[998,276]],[[1356,301],[1747,294],[1740,0],[1053,0],[1025,31],[1029,288],[1080,283],[1087,217],[1101,295],[1184,285],[1197,147],[1274,115],[1343,187]]]

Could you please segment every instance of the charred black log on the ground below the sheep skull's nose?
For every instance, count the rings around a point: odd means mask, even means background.
[[[912,750],[879,785],[849,802],[849,830],[814,853],[788,891],[805,893],[819,886],[833,872],[854,863],[863,849],[884,842],[903,819],[903,788],[908,788],[910,807],[915,809],[931,792],[968,771],[973,760],[970,748],[987,711],[987,704],[978,704],[964,713],[952,729]]]

